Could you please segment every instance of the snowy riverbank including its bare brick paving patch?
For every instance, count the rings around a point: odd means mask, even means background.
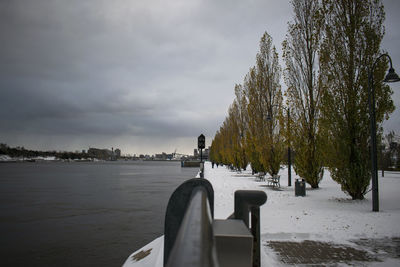
[[[380,212],[371,211],[371,192],[364,200],[353,201],[327,170],[320,188],[307,186],[305,197],[294,194],[294,181],[298,178],[294,172],[291,187],[286,168],[280,175],[281,187],[273,188],[258,181],[251,171],[239,173],[205,164],[204,176],[214,188],[215,219],[226,219],[232,214],[236,190],[262,190],[268,195],[267,203],[260,208],[262,266],[348,266],[355,261],[363,266],[400,265],[399,172],[386,172],[379,179]],[[147,264],[159,262],[162,242],[162,238],[156,239],[136,251],[124,266],[154,266]],[[149,249],[153,249],[154,255],[133,260],[133,256]],[[320,256],[313,253],[316,250],[321,251]]]

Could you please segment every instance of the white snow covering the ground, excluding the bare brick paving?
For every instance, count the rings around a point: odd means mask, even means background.
[[[205,164],[204,177],[214,188],[215,219],[226,219],[233,213],[236,190],[267,193],[268,200],[260,209],[262,266],[284,266],[276,253],[265,246],[271,240],[314,240],[354,246],[351,242],[354,240],[400,237],[400,172],[386,172],[385,177],[379,177],[380,212],[372,212],[371,192],[364,200],[353,201],[340,190],[340,185],[331,179],[327,170],[319,189],[307,185],[305,197],[294,194],[294,181],[299,177],[293,170],[291,187],[288,186],[287,169],[283,168],[279,174],[281,187],[274,189],[267,187],[266,182],[257,181],[251,171],[238,173],[221,166],[211,168],[208,162]],[[156,248],[162,246],[162,242],[162,238],[153,242],[155,251],[162,253],[162,249]],[[146,248],[152,247],[149,245]],[[143,249],[131,256],[139,251]],[[159,259],[159,255],[152,257]],[[124,266],[150,266],[145,264],[146,261],[128,258]],[[383,262],[366,265],[400,266],[400,259],[389,257]]]

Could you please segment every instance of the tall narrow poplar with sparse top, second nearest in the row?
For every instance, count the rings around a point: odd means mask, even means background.
[[[291,107],[289,130],[296,151],[294,168],[312,188],[318,188],[323,175],[318,66],[323,16],[319,0],[293,0],[291,4],[294,17],[282,46],[286,96]]]

